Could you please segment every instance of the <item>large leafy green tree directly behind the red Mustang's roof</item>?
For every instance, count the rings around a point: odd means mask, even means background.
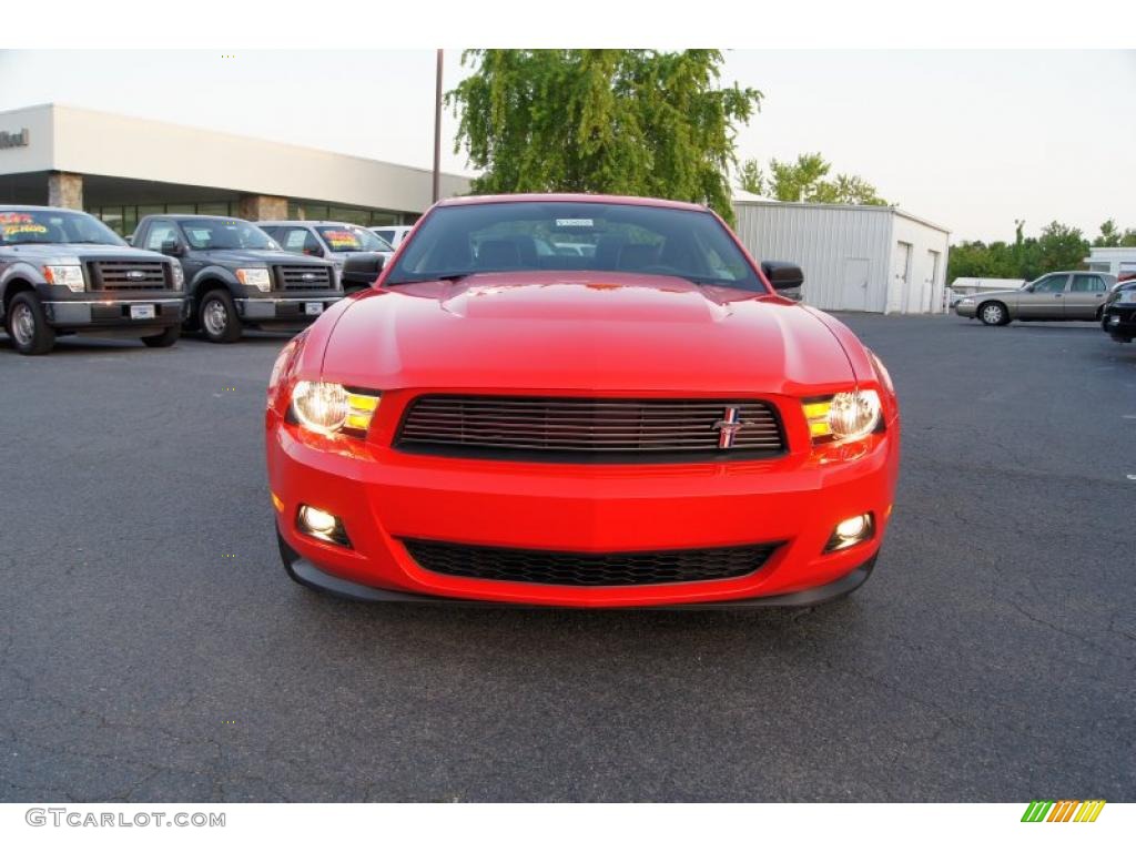
[[[717,50],[469,50],[446,94],[477,193],[602,192],[696,201],[733,219],[737,124],[762,94],[719,86]]]

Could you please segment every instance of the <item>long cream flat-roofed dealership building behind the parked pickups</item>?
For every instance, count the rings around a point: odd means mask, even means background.
[[[429,169],[56,103],[0,112],[0,204],[86,210],[120,234],[148,214],[412,223]],[[443,174],[441,194],[468,192]]]

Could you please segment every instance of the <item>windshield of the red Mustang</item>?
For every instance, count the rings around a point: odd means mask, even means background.
[[[669,275],[766,290],[711,214],[599,201],[440,207],[415,232],[386,283],[550,270]]]

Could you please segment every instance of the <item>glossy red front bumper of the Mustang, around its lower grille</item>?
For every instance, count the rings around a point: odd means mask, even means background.
[[[366,600],[585,608],[819,602],[866,578],[857,571],[883,542],[899,470],[899,419],[845,448],[846,460],[805,452],[669,466],[443,459],[369,444],[348,453],[275,412],[267,425],[285,563],[300,582]],[[336,515],[351,548],[301,533],[300,504]],[[836,524],[862,512],[875,516],[872,537],[825,553]],[[742,577],[580,587],[434,573],[410,557],[402,540],[411,538],[593,553],[782,544]]]

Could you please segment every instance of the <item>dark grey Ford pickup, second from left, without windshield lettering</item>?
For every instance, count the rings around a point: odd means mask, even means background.
[[[298,328],[343,298],[335,268],[291,254],[259,227],[226,216],[147,216],[134,245],[181,261],[186,331],[232,343],[244,326]]]

